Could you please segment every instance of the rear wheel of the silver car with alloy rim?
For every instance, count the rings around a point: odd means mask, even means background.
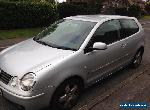
[[[139,51],[136,52],[134,59],[132,60],[131,67],[138,68],[142,62],[142,57],[143,57],[143,51],[142,49],[140,49]]]

